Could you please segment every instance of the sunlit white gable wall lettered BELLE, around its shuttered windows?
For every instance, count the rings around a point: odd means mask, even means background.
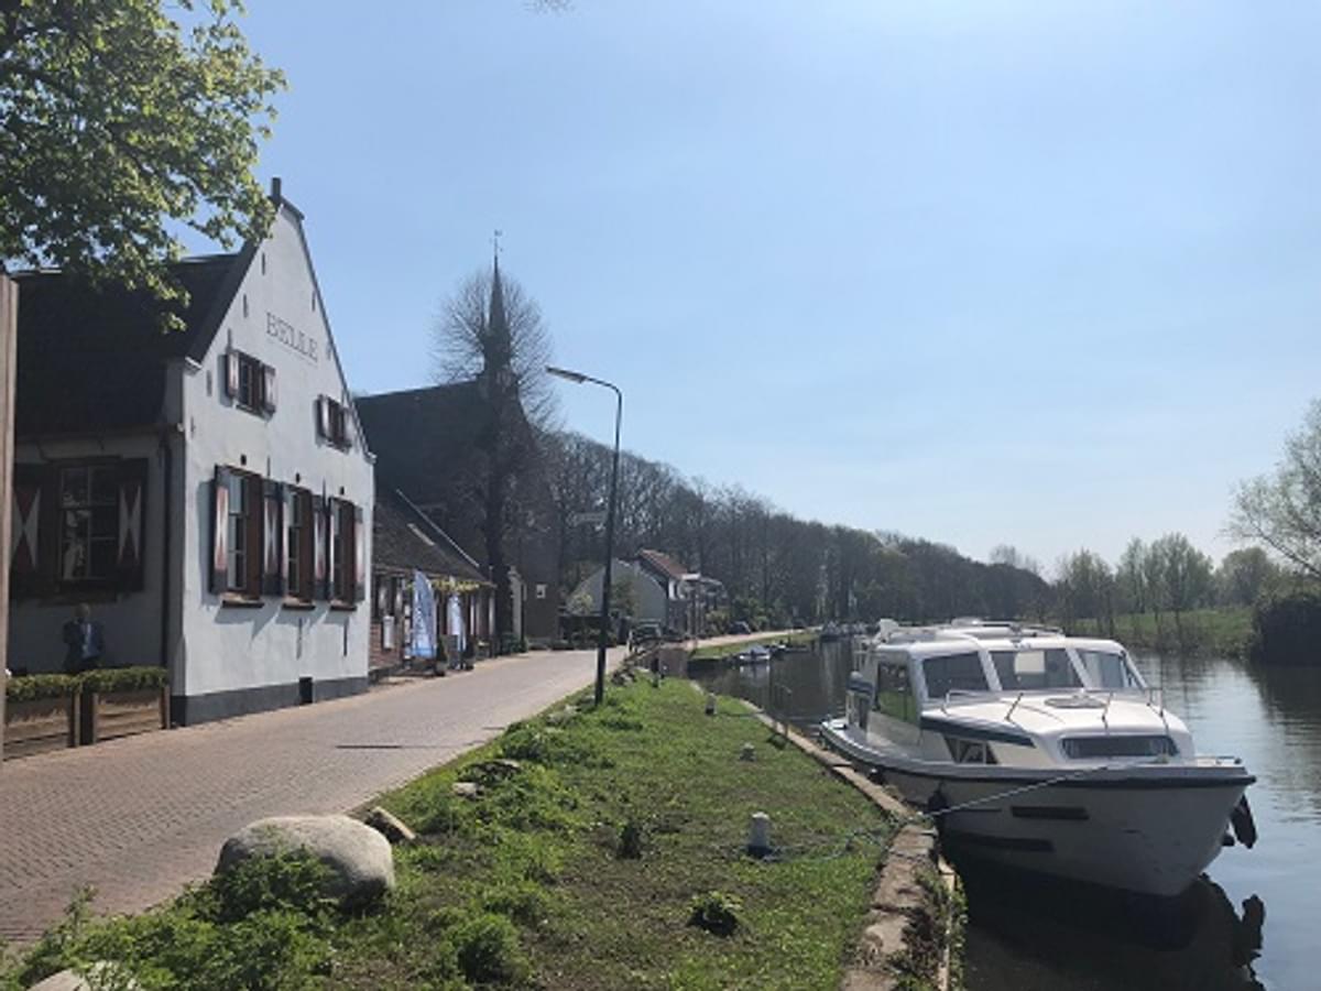
[[[284,340],[271,333],[272,318],[283,321],[281,328],[292,328],[281,330]],[[299,346],[291,346],[288,340]],[[256,415],[226,398],[222,362],[231,345],[276,369],[273,414]],[[324,601],[312,609],[291,609],[273,596],[263,597],[260,608],[240,608],[222,605],[221,597],[210,591],[215,465],[246,469],[362,506],[370,579],[373,466],[355,422],[350,423],[354,440],[350,451],[339,451],[317,437],[316,398],[322,394],[345,404],[351,402],[316,295],[299,218],[281,206],[210,353],[201,366],[190,365],[184,375],[186,552],[180,585],[182,637],[174,645],[178,673],[174,694],[194,696],[288,684],[303,677],[366,678],[371,622],[366,600],[345,612]]]

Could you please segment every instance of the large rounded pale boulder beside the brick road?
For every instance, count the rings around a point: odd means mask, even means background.
[[[374,901],[395,887],[390,840],[347,815],[276,815],[235,832],[221,848],[215,872],[255,856],[305,851],[329,869],[326,896],[346,905]]]

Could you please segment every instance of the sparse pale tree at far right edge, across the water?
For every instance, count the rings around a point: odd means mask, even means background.
[[[1275,473],[1239,486],[1229,529],[1321,579],[1321,399],[1285,439]]]

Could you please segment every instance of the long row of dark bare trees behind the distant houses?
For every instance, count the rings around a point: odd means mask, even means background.
[[[604,507],[610,451],[577,433],[543,437],[560,521],[560,580],[572,589],[600,563],[597,529],[573,522]],[[617,555],[654,547],[725,583],[731,618],[758,625],[892,616],[1045,616],[1050,588],[1022,560],[983,564],[952,547],[798,519],[738,486],[711,486],[624,453]]]

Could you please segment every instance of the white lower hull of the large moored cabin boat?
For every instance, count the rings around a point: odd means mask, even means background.
[[[823,733],[933,813],[956,855],[1157,897],[1180,895],[1215,859],[1252,781],[1234,765],[1069,773],[935,764],[872,749],[839,728]]]

